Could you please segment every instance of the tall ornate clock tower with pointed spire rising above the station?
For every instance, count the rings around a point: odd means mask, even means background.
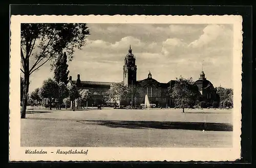
[[[135,55],[132,53],[132,48],[128,50],[127,55],[124,58],[123,65],[123,82],[126,86],[131,86],[136,84],[137,76],[137,66],[135,65]]]

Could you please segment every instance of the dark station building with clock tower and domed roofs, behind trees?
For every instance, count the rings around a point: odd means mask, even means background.
[[[174,103],[170,97],[170,88],[175,85],[176,80],[170,80],[167,83],[157,81],[152,77],[151,72],[143,80],[137,80],[137,65],[135,55],[132,53],[130,46],[128,53],[124,58],[123,65],[123,81],[127,87],[132,87],[137,92],[136,96],[122,97],[122,105],[140,105],[145,101],[145,95],[151,104],[161,107],[173,107]],[[108,96],[108,91],[114,82],[95,82],[95,81],[81,81],[80,75],[77,75],[76,80],[69,78],[68,85],[76,85],[79,89],[88,89],[92,93],[92,98],[88,101],[89,106],[101,103],[103,98]],[[202,72],[201,78],[195,82],[201,93],[200,99],[206,102],[216,101],[218,95],[216,89],[213,87],[210,81],[206,80],[204,73]]]

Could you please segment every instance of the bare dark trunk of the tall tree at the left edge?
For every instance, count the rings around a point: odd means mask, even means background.
[[[29,62],[27,61],[27,64]],[[26,109],[27,109],[27,103],[28,103],[28,92],[29,92],[29,64],[26,66],[26,69],[24,70],[24,92],[23,92],[23,102],[22,102],[22,111],[20,114],[20,118],[25,119],[26,118]]]

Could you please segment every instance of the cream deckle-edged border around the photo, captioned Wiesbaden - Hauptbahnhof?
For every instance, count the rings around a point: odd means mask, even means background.
[[[184,24],[233,24],[233,147],[232,148],[69,148],[69,147],[20,147],[20,23],[184,23]],[[242,100],[242,17],[224,16],[145,16],[145,15],[88,15],[88,16],[11,16],[10,53],[10,161],[233,161],[241,153],[241,100]],[[25,154],[25,149],[56,151],[57,149],[83,149],[88,155]]]

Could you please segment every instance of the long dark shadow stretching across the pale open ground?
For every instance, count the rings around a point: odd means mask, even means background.
[[[102,125],[111,128],[128,129],[184,129],[205,131],[232,131],[233,126],[227,123],[204,122],[170,122],[170,121],[112,121],[112,120],[77,120],[77,119],[49,119],[27,118],[32,120],[75,121],[82,124]]]

